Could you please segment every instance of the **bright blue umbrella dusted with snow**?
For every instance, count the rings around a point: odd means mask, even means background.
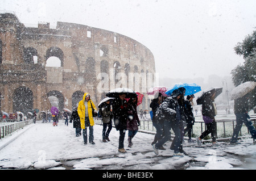
[[[166,94],[171,95],[174,90],[179,89],[180,87],[184,87],[186,89],[185,95],[191,95],[201,91],[201,87],[199,85],[196,85],[195,83],[182,83],[176,84],[174,87],[168,89],[166,91]]]

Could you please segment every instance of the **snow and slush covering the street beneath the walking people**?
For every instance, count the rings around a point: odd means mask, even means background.
[[[164,145],[166,150],[154,154],[153,134],[138,132],[133,147],[129,148],[126,132],[127,153],[118,153],[119,132],[115,128],[110,132],[110,142],[102,142],[101,134],[102,126],[95,125],[96,144],[84,145],[82,136],[75,136],[73,124],[67,127],[60,120],[53,127],[52,122],[37,121],[0,140],[0,169],[256,169],[256,145],[250,136],[238,145],[219,142],[217,148],[210,143],[199,148],[186,140],[183,145],[186,155],[173,157],[174,151],[169,149],[171,141]],[[6,145],[7,142],[10,144]]]

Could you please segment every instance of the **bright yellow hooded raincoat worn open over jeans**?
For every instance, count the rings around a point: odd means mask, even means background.
[[[84,103],[86,102],[86,100],[85,100],[86,95],[89,95],[89,93],[85,92],[84,96],[82,97],[82,100],[80,100],[80,102],[79,102],[79,106],[77,107],[77,112],[80,117],[82,129],[85,129],[85,106],[84,106]],[[90,104],[90,103],[92,103],[92,104]],[[97,110],[97,109],[91,99],[88,100],[87,106],[88,106],[88,115],[89,115],[89,120],[90,120],[90,126],[93,126],[94,120],[93,120],[93,116],[92,116],[92,107],[94,108],[94,110]]]

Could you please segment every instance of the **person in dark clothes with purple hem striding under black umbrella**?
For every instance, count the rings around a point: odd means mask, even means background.
[[[214,96],[216,94],[216,90],[212,89],[207,94],[205,94],[204,103],[202,105],[202,115],[205,125],[207,126],[207,130],[204,131],[200,137],[196,138],[197,144],[201,146],[201,140],[211,134],[212,136],[212,145],[218,146],[216,142],[217,138],[217,123],[215,121],[214,116],[217,115],[216,104],[214,103]]]

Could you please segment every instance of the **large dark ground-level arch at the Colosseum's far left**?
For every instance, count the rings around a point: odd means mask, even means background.
[[[20,86],[13,93],[13,111],[27,113],[33,110],[33,92],[26,86]]]

